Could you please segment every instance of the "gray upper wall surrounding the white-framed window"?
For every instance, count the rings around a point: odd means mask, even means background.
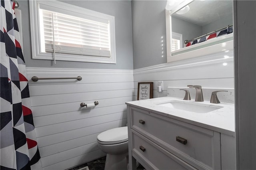
[[[30,17],[28,0],[18,0],[22,11],[24,58],[26,67],[84,68],[84,69],[133,69],[132,54],[132,11],[130,0],[86,1],[63,0],[63,2],[115,16],[116,24],[116,64],[88,63],[76,61],[56,61],[32,59]]]

